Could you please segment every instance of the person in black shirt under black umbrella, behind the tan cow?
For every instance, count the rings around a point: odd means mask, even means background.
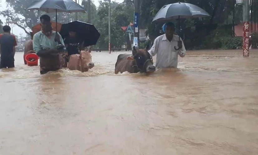
[[[63,67],[67,67],[67,62],[69,62],[69,57],[73,54],[80,54],[81,50],[84,50],[83,42],[77,37],[76,28],[73,26],[69,27],[69,37],[64,39],[64,45],[67,50],[67,54],[64,57]]]

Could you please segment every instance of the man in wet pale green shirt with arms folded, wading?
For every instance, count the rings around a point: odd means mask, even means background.
[[[61,35],[52,30],[50,17],[40,17],[41,31],[33,36],[33,49],[40,57],[40,74],[62,68],[62,55],[66,49]]]

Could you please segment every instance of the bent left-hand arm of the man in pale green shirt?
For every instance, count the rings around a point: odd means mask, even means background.
[[[38,56],[50,56],[53,53],[57,53],[58,50],[56,48],[50,50],[43,50],[40,46],[40,38],[39,35],[34,35],[33,37],[33,50],[36,52]]]

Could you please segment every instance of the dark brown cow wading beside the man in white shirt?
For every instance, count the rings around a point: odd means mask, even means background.
[[[125,71],[129,73],[154,72],[155,66],[153,65],[149,52],[146,50],[147,48],[148,47],[136,50],[135,46],[133,46],[132,55],[118,55],[115,65],[115,74],[118,74],[119,72],[123,73]]]

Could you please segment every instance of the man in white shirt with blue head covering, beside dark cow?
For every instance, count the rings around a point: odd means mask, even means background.
[[[179,36],[174,35],[175,26],[174,23],[165,23],[162,27],[165,34],[158,36],[150,48],[149,53],[151,56],[156,57],[156,68],[177,68],[178,55],[185,56],[186,50],[184,43]]]

